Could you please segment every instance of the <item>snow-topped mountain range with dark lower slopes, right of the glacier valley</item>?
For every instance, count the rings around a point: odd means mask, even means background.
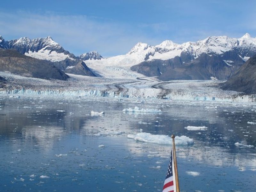
[[[128,54],[143,54],[144,60],[133,71],[160,80],[228,79],[245,61],[256,54],[256,38],[211,36],[197,42],[160,45],[137,44]]]

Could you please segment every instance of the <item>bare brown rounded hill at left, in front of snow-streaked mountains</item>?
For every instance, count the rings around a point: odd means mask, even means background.
[[[67,80],[69,77],[51,61],[31,58],[14,49],[0,49],[0,70],[42,79]]]

